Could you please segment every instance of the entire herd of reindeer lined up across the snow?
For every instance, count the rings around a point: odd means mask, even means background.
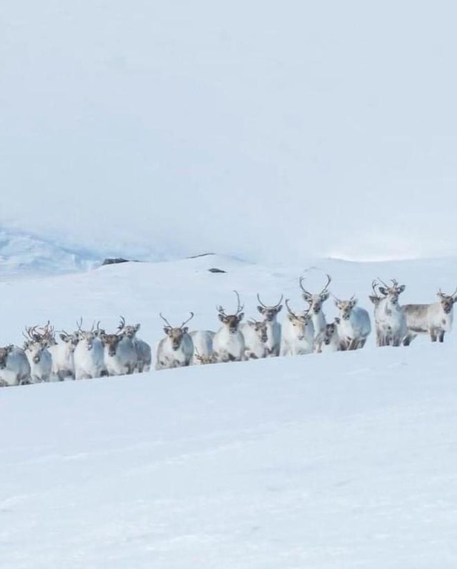
[[[432,342],[443,342],[452,328],[457,288],[452,294],[439,289],[435,303],[401,306],[399,297],[405,286],[395,279],[391,286],[378,280],[371,283],[373,293],[368,297],[374,306],[377,346],[409,346],[418,334],[428,334]],[[187,324],[194,318],[193,312],[177,327],[160,313],[165,336],[156,348],[156,369],[363,348],[371,333],[371,319],[364,308],[357,306],[356,298],[341,300],[332,295],[338,316],[327,322],[323,304],[331,296],[331,276],[326,276],[318,293],[306,290],[304,281],[303,277],[298,281],[306,303],[304,310],[294,310],[288,300],[283,303],[282,295],[276,304],[266,305],[257,294],[257,310],[262,318],[247,322],[242,322],[243,305],[234,291],[233,313],[216,307],[221,322],[216,332],[189,331]],[[278,314],[283,306],[287,314],[280,323]],[[0,386],[149,371],[151,347],[137,336],[140,324],[126,326],[121,316],[112,334],[100,328],[100,323],[94,323],[90,330],[84,330],[82,324],[81,318],[73,333],[56,332],[49,322],[26,328],[22,348],[12,344],[0,348]]]

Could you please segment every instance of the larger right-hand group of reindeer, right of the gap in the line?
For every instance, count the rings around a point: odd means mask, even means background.
[[[369,296],[374,305],[376,346],[409,346],[418,334],[428,334],[432,342],[443,342],[444,335],[451,331],[457,288],[452,294],[439,289],[435,303],[401,306],[398,298],[406,287],[395,279],[391,286],[378,280],[371,283],[373,294]],[[217,332],[189,332],[186,324],[194,317],[192,312],[178,327],[171,326],[160,314],[166,326],[165,337],[156,350],[156,369],[363,348],[371,333],[371,319],[364,308],[357,306],[356,298],[341,300],[332,295],[338,316],[327,322],[323,304],[330,297],[331,276],[326,275],[326,283],[318,293],[306,290],[304,281],[301,277],[298,284],[307,306],[298,312],[288,300],[284,301],[287,315],[283,323],[278,322],[282,295],[272,306],[257,295],[257,310],[263,318],[242,323],[243,306],[236,291],[234,313],[227,314],[222,306],[216,308],[222,324]]]

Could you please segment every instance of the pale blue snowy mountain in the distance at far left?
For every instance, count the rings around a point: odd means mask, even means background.
[[[0,279],[8,276],[49,275],[86,271],[99,265],[95,251],[71,248],[51,238],[0,228]]]

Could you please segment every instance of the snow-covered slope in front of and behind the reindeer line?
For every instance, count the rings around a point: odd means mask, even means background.
[[[333,293],[368,308],[374,276],[405,282],[403,302],[456,285],[453,259],[313,266],[310,287],[328,271]],[[24,323],[109,328],[119,313],[154,343],[159,310],[214,327],[233,288],[246,316],[256,291],[298,307],[302,270],[212,256],[0,283],[0,343]],[[455,363],[453,335],[371,338],[354,353],[2,389],[0,565],[454,569]]]

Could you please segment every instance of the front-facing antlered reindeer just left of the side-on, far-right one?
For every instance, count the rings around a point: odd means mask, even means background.
[[[369,297],[375,306],[376,343],[378,346],[401,346],[408,328],[403,308],[398,303],[398,296],[406,287],[399,285],[395,279],[391,279],[392,286],[379,280],[383,286],[373,281],[373,296]],[[376,288],[382,296],[378,296]]]

